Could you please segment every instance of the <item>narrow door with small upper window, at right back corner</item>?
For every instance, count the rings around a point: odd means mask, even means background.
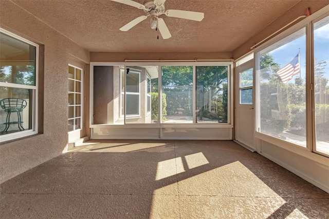
[[[236,67],[235,140],[256,150],[254,144],[253,59]]]

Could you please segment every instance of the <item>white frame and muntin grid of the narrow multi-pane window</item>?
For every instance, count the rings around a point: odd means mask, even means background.
[[[68,64],[68,66],[71,66],[74,68],[74,78],[71,79],[71,78],[68,78],[68,80],[70,81],[74,81],[74,92],[69,92],[68,91],[68,94],[73,94],[74,95],[74,104],[71,104],[71,105],[68,105],[68,107],[72,106],[74,107],[74,117],[72,118],[68,118],[68,121],[69,120],[74,120],[74,123],[73,123],[73,130],[72,131],[69,131],[68,133],[72,133],[72,132],[76,132],[76,131],[80,131],[82,130],[82,110],[83,110],[83,101],[82,101],[82,96],[83,96],[83,69],[82,68],[79,68],[75,65],[71,65],[71,64]],[[81,71],[81,75],[80,75],[80,78],[81,80],[77,80],[76,79],[76,69],[79,69]],[[77,92],[77,89],[76,89],[76,82],[80,82],[80,92]],[[80,104],[77,104],[77,101],[76,101],[76,95],[77,94],[80,94]],[[77,106],[80,106],[80,116],[76,116],[76,107]],[[76,119],[79,119],[80,118],[80,128],[79,129],[76,129],[76,122],[75,120]]]

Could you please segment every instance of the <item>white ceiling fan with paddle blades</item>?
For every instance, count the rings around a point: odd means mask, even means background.
[[[136,26],[140,22],[151,17],[151,28],[154,30],[159,30],[163,39],[171,38],[169,29],[163,21],[163,19],[158,18],[161,14],[166,14],[169,17],[178,17],[181,19],[188,19],[193,21],[202,21],[204,19],[204,13],[195,11],[182,11],[182,10],[167,10],[165,11],[166,0],[154,0],[152,2],[145,3],[144,5],[131,1],[131,0],[111,0],[113,2],[122,3],[125,5],[130,5],[138,9],[144,10],[147,15],[142,15],[134,19],[133,21],[127,23],[120,28],[121,31],[128,31],[132,27]],[[158,36],[159,37],[159,36]]]

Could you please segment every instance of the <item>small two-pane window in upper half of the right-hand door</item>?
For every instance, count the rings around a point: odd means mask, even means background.
[[[253,68],[239,73],[240,104],[252,104]]]

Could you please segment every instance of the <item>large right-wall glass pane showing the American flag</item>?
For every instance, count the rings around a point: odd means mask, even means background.
[[[305,28],[258,53],[258,131],[306,147]]]

